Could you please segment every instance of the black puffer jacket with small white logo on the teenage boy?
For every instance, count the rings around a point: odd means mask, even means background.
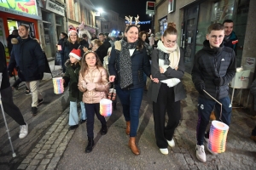
[[[228,83],[236,74],[236,54],[234,50],[224,47],[210,48],[209,41],[204,42],[204,47],[195,54],[193,69],[191,72],[192,81],[197,87],[204,83],[205,90],[215,99],[222,99],[228,96]],[[215,86],[213,80],[223,77],[224,85]],[[200,94],[201,98],[212,99],[207,94]]]

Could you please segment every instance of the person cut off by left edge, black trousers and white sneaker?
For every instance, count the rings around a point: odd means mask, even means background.
[[[0,42],[0,74],[2,75],[2,81],[0,80],[0,93],[3,104],[3,111],[5,111],[15,120],[15,122],[20,125],[19,138],[23,139],[28,133],[28,126],[26,122],[24,122],[24,118],[20,113],[20,109],[14,104],[13,101],[12,88],[9,84],[9,75],[7,71],[5,52],[2,42]]]

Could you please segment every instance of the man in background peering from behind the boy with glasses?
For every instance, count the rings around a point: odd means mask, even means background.
[[[234,22],[233,20],[224,20],[224,46],[234,49],[237,54],[237,43],[238,38],[236,37],[236,33],[233,31]]]

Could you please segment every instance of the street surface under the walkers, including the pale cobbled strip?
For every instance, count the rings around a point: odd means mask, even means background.
[[[195,127],[197,122],[197,92],[188,75],[183,77],[187,98],[181,102],[182,120],[174,135],[176,146],[169,155],[160,154],[154,139],[152,105],[146,94],[140,110],[137,143],[140,156],[127,147],[125,120],[121,105],[107,117],[108,133],[102,136],[100,122],[95,121],[95,147],[84,153],[87,144],[85,123],[75,131],[67,131],[68,108],[44,134],[18,169],[256,169],[256,144],[249,139],[255,120],[241,109],[233,109],[226,151],[218,156],[207,150],[207,162],[195,156]]]

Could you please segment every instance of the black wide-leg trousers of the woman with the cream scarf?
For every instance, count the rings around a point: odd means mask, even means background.
[[[166,83],[161,83],[157,102],[153,102],[154,134],[159,148],[167,148],[167,140],[172,140],[175,128],[181,118],[180,101],[174,101],[173,87],[169,88]],[[166,122],[166,111],[168,122]]]

